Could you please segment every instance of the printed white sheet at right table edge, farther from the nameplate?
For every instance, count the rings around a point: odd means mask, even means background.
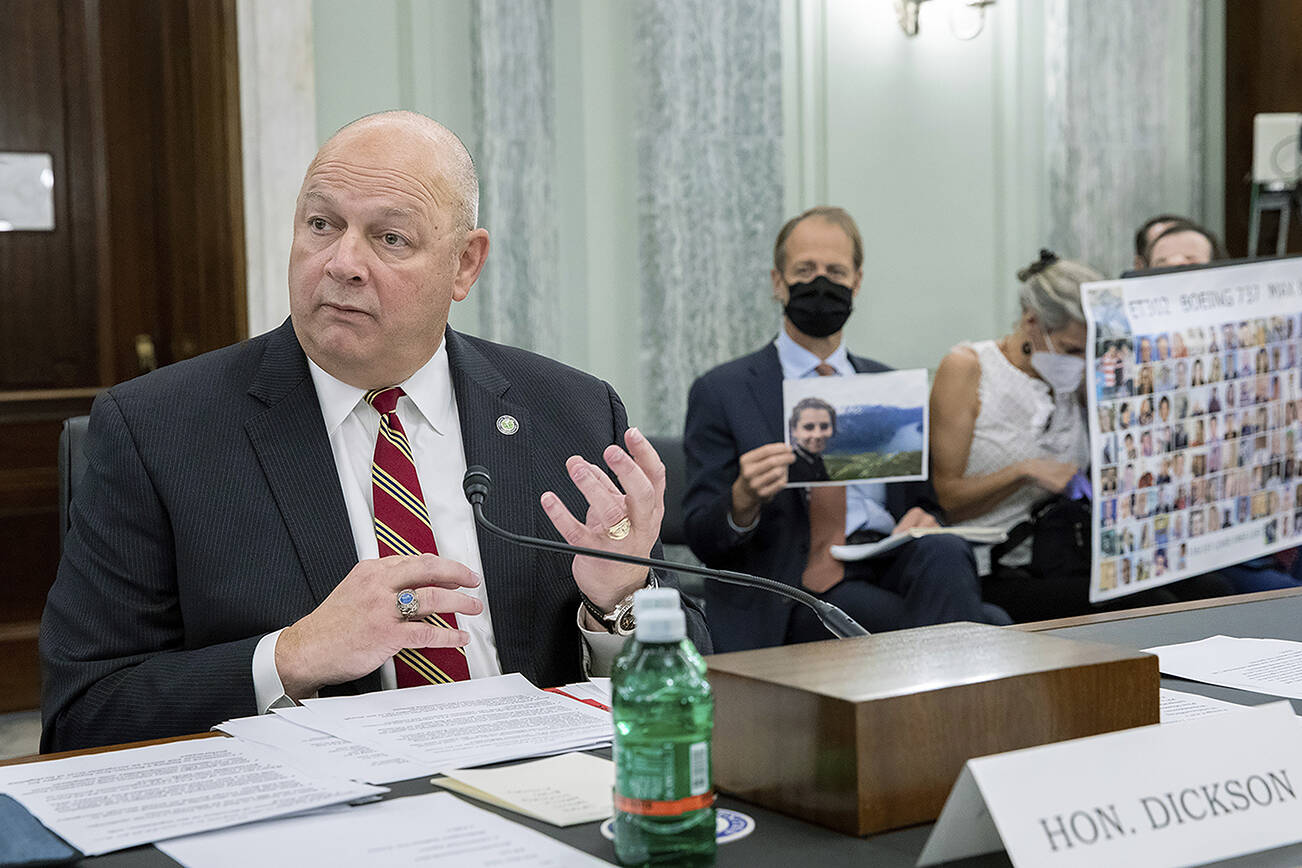
[[[1144,651],[1164,675],[1302,699],[1302,642],[1208,636]]]

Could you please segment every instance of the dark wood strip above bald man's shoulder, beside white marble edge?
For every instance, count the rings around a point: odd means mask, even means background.
[[[100,8],[111,381],[137,372],[137,334],[159,364],[245,336],[234,27],[233,0]]]

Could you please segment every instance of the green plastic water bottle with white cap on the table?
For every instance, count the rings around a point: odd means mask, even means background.
[[[637,619],[612,671],[615,855],[624,865],[712,865],[715,700],[704,661],[681,606],[643,606]]]

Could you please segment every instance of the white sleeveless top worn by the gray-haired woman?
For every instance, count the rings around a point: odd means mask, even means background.
[[[1075,393],[1055,401],[1048,384],[1013,367],[995,341],[961,344],[976,353],[980,362],[980,413],[973,428],[963,476],[983,476],[1026,458],[1068,461],[1082,470],[1090,461],[1090,431]],[[1031,506],[1048,497],[1035,484],[1017,489],[995,509],[956,527],[999,527],[1012,530],[1030,518]],[[1021,565],[1031,560],[1030,540],[1004,557],[1004,563]],[[988,549],[978,549],[978,566],[990,571]]]

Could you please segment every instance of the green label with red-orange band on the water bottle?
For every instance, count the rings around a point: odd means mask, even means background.
[[[710,742],[618,744],[615,751],[615,808],[625,813],[674,816],[708,808]]]

